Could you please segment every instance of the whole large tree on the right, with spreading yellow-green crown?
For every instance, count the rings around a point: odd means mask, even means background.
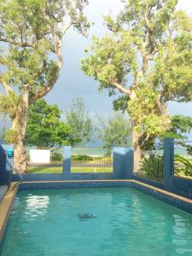
[[[192,98],[192,19],[177,11],[177,0],[123,1],[115,20],[105,18],[108,34],[93,38],[82,61],[99,89],[123,94],[131,117],[135,170],[142,150],[171,127],[167,102]]]

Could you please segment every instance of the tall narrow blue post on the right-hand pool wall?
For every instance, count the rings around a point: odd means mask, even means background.
[[[172,176],[174,172],[174,139],[164,139],[164,188],[172,191]]]

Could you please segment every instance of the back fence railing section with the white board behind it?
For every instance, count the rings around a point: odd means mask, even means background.
[[[26,147],[27,173],[61,173],[63,148]]]

